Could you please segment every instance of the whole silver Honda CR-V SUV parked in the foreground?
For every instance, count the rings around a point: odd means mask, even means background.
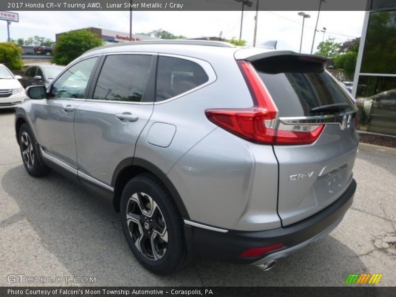
[[[26,90],[23,162],[109,199],[152,272],[198,256],[270,269],[332,231],[356,189],[356,109],[328,62],[199,41],[93,49]]]

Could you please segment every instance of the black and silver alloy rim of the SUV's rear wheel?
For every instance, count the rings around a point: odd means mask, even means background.
[[[128,201],[126,219],[136,248],[150,260],[161,259],[168,246],[168,231],[158,204],[145,193],[135,193]]]

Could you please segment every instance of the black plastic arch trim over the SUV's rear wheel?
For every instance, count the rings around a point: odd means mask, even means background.
[[[117,212],[120,211],[121,194],[125,185],[131,178],[142,173],[150,173],[158,178],[169,190],[183,218],[190,218],[182,198],[167,175],[151,162],[132,157],[126,158],[118,164],[111,179],[111,186],[114,187],[113,205]]]

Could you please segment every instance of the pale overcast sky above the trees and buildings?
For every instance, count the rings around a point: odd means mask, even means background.
[[[302,52],[309,53],[318,15],[317,11],[304,11],[305,18]],[[73,29],[97,27],[129,32],[129,11],[19,11],[19,23],[10,25],[12,39],[38,35],[55,40],[55,34]],[[277,49],[299,50],[302,17],[298,11],[259,11],[256,46],[277,40]],[[321,11],[318,30],[326,27],[324,39],[335,38],[344,42],[360,37],[364,11]],[[245,11],[242,39],[253,44],[255,11]],[[133,33],[163,29],[174,35],[188,38],[219,36],[239,38],[241,11],[134,11]],[[0,42],[7,40],[7,26],[0,21]],[[323,33],[317,32],[314,52],[323,40]]]

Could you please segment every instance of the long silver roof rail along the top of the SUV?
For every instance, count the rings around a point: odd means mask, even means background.
[[[220,42],[220,41],[207,41],[207,40],[184,40],[184,39],[173,39],[173,40],[145,40],[145,41],[129,41],[120,42],[114,45],[105,45],[101,48],[112,48],[122,46],[138,46],[138,45],[188,45],[188,46],[207,46],[207,47],[221,47],[221,48],[235,48],[234,45]],[[90,49],[86,52],[90,52],[95,49]]]

